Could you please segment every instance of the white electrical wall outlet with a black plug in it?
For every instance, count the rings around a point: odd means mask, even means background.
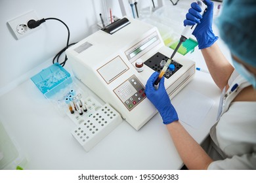
[[[30,33],[41,29],[40,26],[36,27],[35,29],[30,29],[28,27],[28,21],[30,20],[39,20],[35,11],[27,12],[26,14],[18,16],[7,22],[11,27],[16,39],[21,39],[22,37],[26,37],[27,35],[30,35]]]

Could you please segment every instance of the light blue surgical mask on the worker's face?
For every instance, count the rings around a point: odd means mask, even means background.
[[[253,75],[253,73],[250,73],[249,71],[247,71],[244,65],[242,65],[241,63],[238,63],[233,58],[232,58],[232,61],[236,71],[238,71],[238,73],[242,75],[247,80],[247,82],[251,83],[254,89],[256,89],[256,76]]]

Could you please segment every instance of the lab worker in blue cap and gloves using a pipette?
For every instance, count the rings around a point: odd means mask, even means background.
[[[146,96],[160,112],[188,169],[256,169],[256,1],[225,0],[216,20],[234,67],[221,53],[212,30],[214,5],[209,0],[204,2],[205,14],[201,16],[201,8],[192,3],[184,25],[198,24],[193,35],[209,73],[223,91],[218,120],[208,141],[200,146],[179,122],[165,90],[164,77],[156,89],[158,73],[150,76]]]

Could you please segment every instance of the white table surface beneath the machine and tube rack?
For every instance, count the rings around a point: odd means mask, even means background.
[[[83,84],[80,87],[88,91]],[[198,129],[184,124],[192,137],[202,142],[215,123],[220,91],[209,74],[199,71],[192,82],[172,99],[173,105],[178,105],[184,94],[192,90],[215,100],[215,105]],[[91,95],[98,99],[93,93]],[[31,80],[0,97],[0,115],[28,159],[26,169],[182,167],[179,154],[159,114],[139,131],[123,121],[89,152],[85,152],[72,137],[74,122],[68,116],[61,116]]]

